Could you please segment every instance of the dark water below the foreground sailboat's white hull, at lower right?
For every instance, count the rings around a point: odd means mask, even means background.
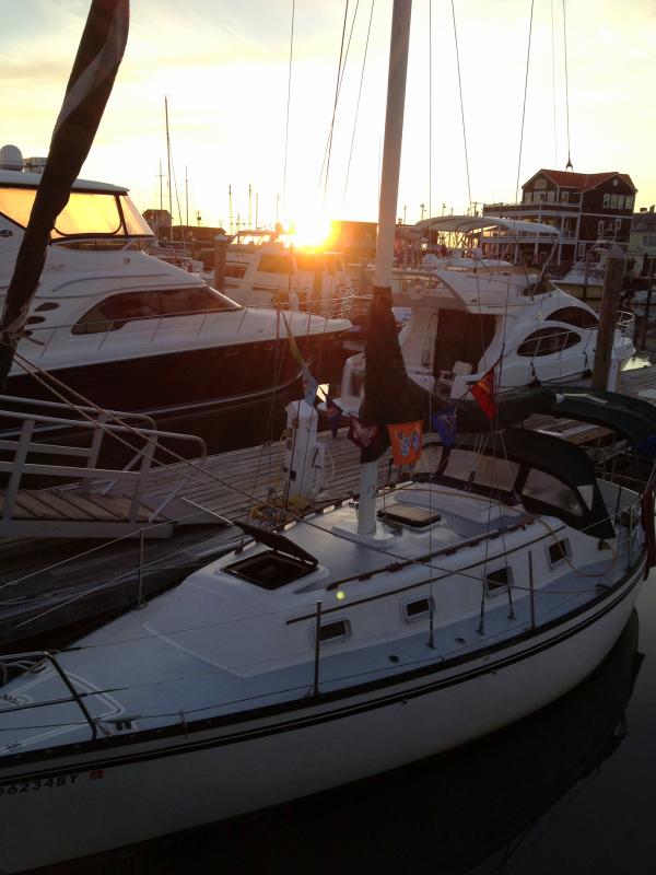
[[[522,723],[394,774],[48,872],[653,875],[655,690],[652,572],[611,657]]]

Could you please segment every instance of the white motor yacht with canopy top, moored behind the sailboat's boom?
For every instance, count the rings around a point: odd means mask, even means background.
[[[487,217],[424,220],[434,232],[493,233],[508,242],[558,234],[551,225]],[[508,244],[509,245],[509,244]],[[496,362],[503,389],[581,382],[591,373],[599,317],[584,301],[532,269],[470,258],[444,259],[432,270],[395,270],[393,303],[409,317],[399,341],[408,374],[444,398],[466,397]],[[634,353],[634,317],[620,314],[609,388]],[[364,353],[347,360],[339,405],[360,408]]]

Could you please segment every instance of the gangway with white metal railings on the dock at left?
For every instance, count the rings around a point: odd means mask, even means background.
[[[204,465],[200,438],[160,431],[144,415],[78,407],[71,417],[70,407],[56,401],[0,395],[0,538],[166,538],[176,525],[223,522],[179,497]],[[73,434],[74,443],[55,443],[49,435],[58,431]],[[129,442],[130,460],[122,468],[101,467],[105,442],[116,438]],[[186,455],[194,464],[155,499],[149,474],[168,442],[190,446]],[[46,479],[60,485],[30,487]]]

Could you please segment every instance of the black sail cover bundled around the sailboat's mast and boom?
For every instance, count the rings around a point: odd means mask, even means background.
[[[390,289],[374,289],[364,355],[364,399],[360,419],[367,425],[378,425],[380,435],[367,451],[366,460],[373,460],[389,445],[386,425],[422,420],[424,429],[429,430],[431,416],[453,401],[445,401],[408,376],[391,312]],[[457,401],[457,431],[472,434],[515,425],[532,413],[549,412],[555,401],[555,393],[544,387],[504,393],[496,399],[493,422],[476,401]]]

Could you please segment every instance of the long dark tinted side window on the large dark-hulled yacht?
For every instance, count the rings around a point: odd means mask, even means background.
[[[74,335],[116,331],[128,322],[239,310],[239,305],[209,285],[120,292],[99,301],[71,328]]]

